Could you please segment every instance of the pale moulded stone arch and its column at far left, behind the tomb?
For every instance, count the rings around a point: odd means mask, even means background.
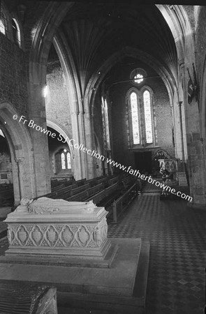
[[[0,117],[10,149],[15,204],[19,204],[22,197],[36,197],[31,137],[10,103],[0,103]]]

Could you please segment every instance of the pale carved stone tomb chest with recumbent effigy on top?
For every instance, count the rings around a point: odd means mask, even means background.
[[[6,256],[41,255],[103,260],[111,246],[107,211],[93,202],[66,202],[40,197],[23,199],[8,215]]]

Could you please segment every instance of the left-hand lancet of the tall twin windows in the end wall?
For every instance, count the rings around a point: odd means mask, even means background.
[[[131,93],[130,100],[131,100],[131,118],[132,118],[132,128],[133,128],[133,144],[140,144],[137,94],[134,92]]]

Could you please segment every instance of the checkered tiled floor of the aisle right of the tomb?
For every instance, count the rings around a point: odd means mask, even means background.
[[[206,211],[186,207],[184,200],[160,201],[155,189],[152,195],[147,193],[149,188],[117,224],[109,225],[108,237],[150,241],[147,314],[202,314]],[[0,244],[5,245],[6,239]]]

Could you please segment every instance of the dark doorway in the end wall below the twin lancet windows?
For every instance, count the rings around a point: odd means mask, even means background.
[[[152,151],[135,153],[135,168],[142,173],[152,173]]]

